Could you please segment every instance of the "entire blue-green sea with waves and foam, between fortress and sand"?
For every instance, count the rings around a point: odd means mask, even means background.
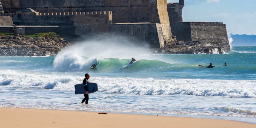
[[[128,64],[132,57],[137,61]],[[197,66],[209,63],[216,67]],[[88,105],[74,94],[85,73],[99,86]],[[0,57],[0,95],[0,107],[256,117],[256,47],[155,55],[81,43],[57,56]]]

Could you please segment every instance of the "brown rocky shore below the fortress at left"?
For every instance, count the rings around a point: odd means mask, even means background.
[[[62,37],[1,36],[0,56],[55,56],[71,43],[72,39]]]

